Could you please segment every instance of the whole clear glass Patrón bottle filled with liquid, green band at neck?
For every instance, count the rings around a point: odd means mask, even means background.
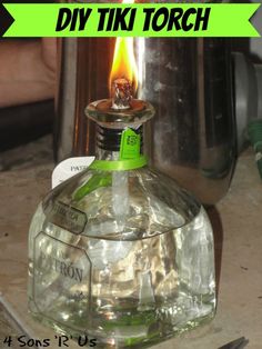
[[[142,124],[152,106],[110,103],[87,108],[98,122],[97,160],[32,219],[29,308],[97,347],[142,348],[214,316],[213,236],[201,205],[147,167]]]

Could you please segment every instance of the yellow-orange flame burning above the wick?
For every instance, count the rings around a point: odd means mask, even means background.
[[[122,3],[133,3],[134,0],[123,0]],[[117,38],[113,63],[109,78],[109,89],[115,79],[127,79],[132,84],[133,91],[138,89],[138,67],[133,51],[133,38]]]

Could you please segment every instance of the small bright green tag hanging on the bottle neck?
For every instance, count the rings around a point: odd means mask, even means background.
[[[132,129],[125,129],[122,132],[119,160],[138,159],[140,157],[140,143],[141,136]]]

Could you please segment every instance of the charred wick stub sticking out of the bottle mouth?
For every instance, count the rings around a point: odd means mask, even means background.
[[[115,79],[112,83],[112,109],[129,109],[133,99],[133,89],[125,78]]]

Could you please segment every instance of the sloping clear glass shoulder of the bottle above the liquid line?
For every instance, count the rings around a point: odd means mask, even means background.
[[[185,226],[201,206],[175,181],[145,167],[85,170],[54,188],[42,208],[47,220],[74,233],[137,239]]]

